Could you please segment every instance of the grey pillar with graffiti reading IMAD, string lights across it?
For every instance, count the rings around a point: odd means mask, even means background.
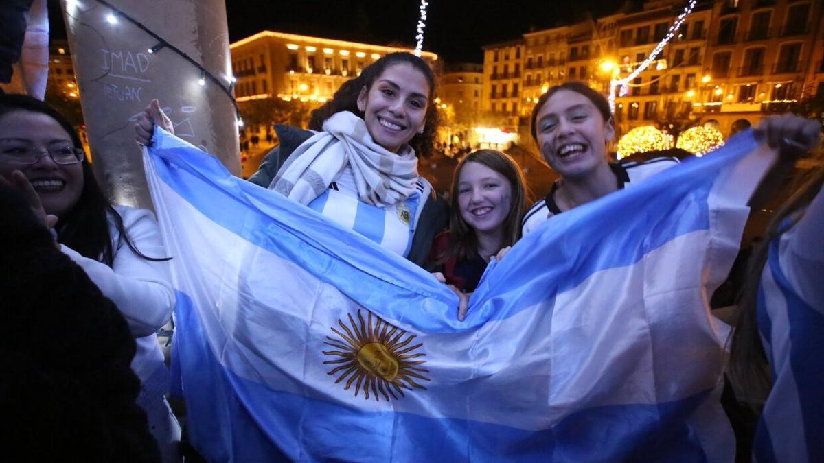
[[[228,86],[232,72],[223,0],[109,0],[162,39],[188,54]],[[185,58],[148,50],[158,42],[97,0],[63,0],[69,47],[86,120],[95,174],[116,203],[152,208],[136,116],[152,98],[185,141],[240,172],[236,113],[231,99]]]

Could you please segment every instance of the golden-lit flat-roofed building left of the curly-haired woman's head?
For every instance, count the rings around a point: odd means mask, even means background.
[[[323,102],[340,85],[397,47],[264,30],[230,45],[237,101],[258,98]],[[438,55],[423,52],[434,68]]]

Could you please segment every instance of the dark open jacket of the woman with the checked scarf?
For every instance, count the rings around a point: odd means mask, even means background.
[[[275,125],[274,131],[278,133],[280,144],[266,154],[260,167],[254,175],[249,177],[249,181],[269,188],[269,184],[278,174],[281,166],[289,156],[307,139],[314,134],[309,130],[297,129],[288,125]],[[435,235],[449,227],[449,206],[446,201],[438,197],[433,190],[424,203],[424,210],[421,212],[418,226],[415,228],[412,237],[412,247],[410,254],[406,256],[419,267],[425,267],[429,257],[429,250],[432,248]]]

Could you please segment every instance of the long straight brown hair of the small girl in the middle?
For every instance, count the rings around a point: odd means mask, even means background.
[[[461,179],[461,170],[467,162],[477,162],[503,175],[512,186],[512,199],[509,203],[509,213],[503,219],[502,247],[513,246],[521,238],[521,217],[527,205],[527,181],[524,180],[521,168],[512,157],[494,149],[480,149],[466,155],[455,167],[452,174],[452,189],[449,213],[449,250],[439,260],[447,260],[452,255],[458,260],[469,260],[478,253],[478,237],[475,230],[461,217],[458,206],[458,185]]]

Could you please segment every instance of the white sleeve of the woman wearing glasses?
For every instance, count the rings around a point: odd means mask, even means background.
[[[160,228],[145,209],[118,208],[129,239],[143,255],[168,257]],[[60,246],[63,254],[79,264],[105,297],[109,297],[129,322],[135,337],[148,336],[166,324],[175,306],[168,261],[155,262],[135,255],[125,241],[115,250],[112,268]]]

